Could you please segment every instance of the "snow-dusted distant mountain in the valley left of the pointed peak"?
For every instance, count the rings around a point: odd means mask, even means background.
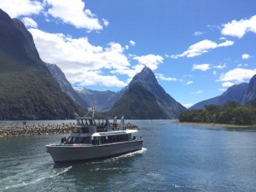
[[[123,91],[99,91],[80,87],[75,87],[74,90],[84,99],[84,101],[89,103],[90,107],[96,108],[96,111],[100,113],[110,110],[113,107],[113,104],[123,95]]]

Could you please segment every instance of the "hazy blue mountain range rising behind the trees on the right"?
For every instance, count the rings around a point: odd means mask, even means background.
[[[256,99],[256,74],[250,79],[249,84],[235,84],[231,86],[228,90],[224,91],[221,96],[215,96],[211,99],[207,99],[202,102],[196,103],[194,106],[189,108],[192,109],[203,109],[206,105],[224,105],[227,102],[239,102],[241,104],[246,104],[247,102],[252,102]]]

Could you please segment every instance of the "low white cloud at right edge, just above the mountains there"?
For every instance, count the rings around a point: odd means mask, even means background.
[[[235,81],[236,83],[244,82],[246,79],[251,79],[256,73],[256,69],[235,68],[227,73],[222,73],[219,76],[219,81]]]

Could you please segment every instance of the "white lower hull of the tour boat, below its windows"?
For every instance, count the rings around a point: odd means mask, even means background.
[[[108,143],[102,145],[46,145],[47,152],[56,162],[74,160],[92,160],[118,154],[126,154],[143,148],[143,140],[132,140],[122,143]]]

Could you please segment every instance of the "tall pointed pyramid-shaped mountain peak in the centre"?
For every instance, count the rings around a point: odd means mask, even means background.
[[[175,119],[186,110],[158,84],[150,68],[144,67],[123,90],[123,96],[109,114],[125,115],[126,119]]]

